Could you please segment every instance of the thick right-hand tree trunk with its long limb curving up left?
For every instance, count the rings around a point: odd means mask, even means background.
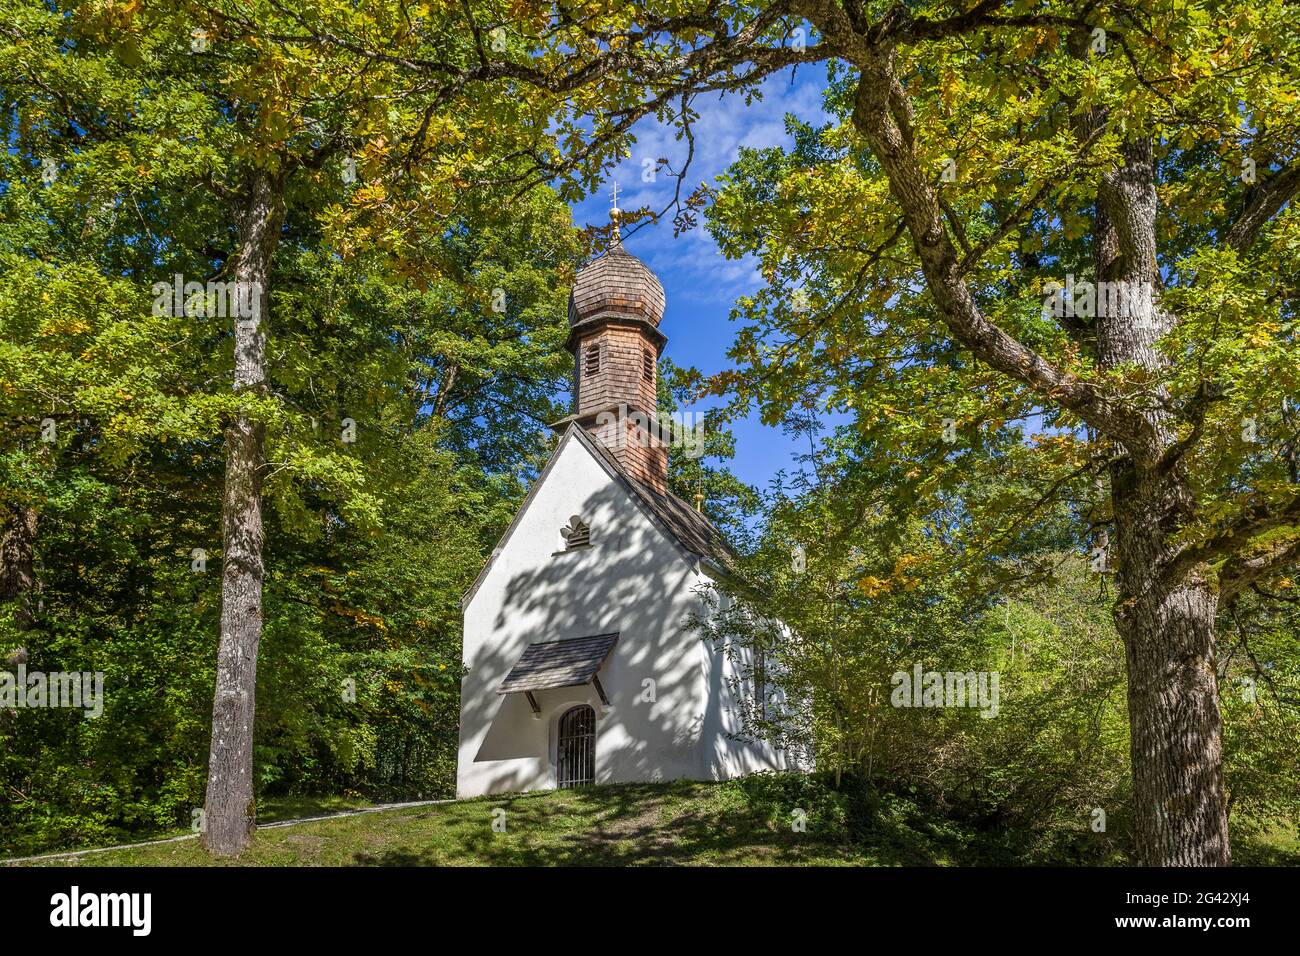
[[[1164,574],[1170,545],[1195,509],[1180,466],[1165,460],[1176,437],[1167,397],[1138,394],[1115,402],[988,321],[966,285],[936,193],[913,148],[911,108],[894,74],[892,49],[863,49],[852,23],[828,9],[833,8],[822,8],[819,29],[854,44],[862,70],[853,124],[889,177],[944,323],[993,369],[1075,412],[1123,451],[1112,475],[1119,545],[1115,620],[1128,658],[1138,861],[1227,864],[1214,592],[1204,568],[1173,583]],[[1174,319],[1157,297],[1153,150],[1136,139],[1121,151],[1121,164],[1101,177],[1097,190],[1096,278],[1138,284],[1132,289],[1139,295],[1114,313],[1098,308],[1097,359],[1104,368],[1148,368],[1158,378],[1167,359],[1156,343]]]

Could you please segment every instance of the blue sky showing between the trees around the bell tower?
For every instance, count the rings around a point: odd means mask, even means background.
[[[682,195],[699,182],[712,183],[727,170],[742,146],[789,146],[784,117],[794,113],[801,120],[822,122],[826,69],[810,66],[770,77],[762,86],[763,99],[745,105],[741,96],[701,96],[694,108],[699,120],[694,125],[696,156],[690,164]],[[655,182],[642,182],[642,161],[666,157],[680,169],[686,156],[686,143],[673,138],[672,129],[653,117],[634,127],[637,143],[632,153],[614,172],[619,182],[619,206],[636,209],[642,206],[662,209],[673,193],[673,178],[659,173]],[[608,222],[610,182],[585,202],[573,206],[578,225]],[[660,328],[668,336],[666,355],[682,367],[694,365],[707,373],[731,367],[727,350],[736,334],[729,320],[737,297],[762,286],[753,260],[729,261],[722,256],[707,230],[701,225],[673,238],[671,219],[647,225],[624,243],[625,248],[654,269],[663,282],[668,308]],[[703,411],[705,405],[694,411]],[[766,486],[781,468],[790,467],[800,449],[779,431],[762,425],[751,416],[732,425],[736,433],[736,458],[732,471],[751,485]]]

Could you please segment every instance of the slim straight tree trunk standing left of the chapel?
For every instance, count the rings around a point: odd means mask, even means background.
[[[239,252],[233,281],[252,289],[252,319],[234,316],[234,390],[266,388],[266,315],[270,260],[283,219],[282,181],[256,170],[250,176],[239,215]],[[256,284],[256,285],[254,285]],[[242,298],[242,297],[239,297]],[[218,856],[248,847],[256,822],[252,780],[252,728],[261,640],[263,528],[261,481],[265,425],[238,412],[226,428],[226,483],[222,501],[221,644],[212,700],[212,747],[203,844]]]

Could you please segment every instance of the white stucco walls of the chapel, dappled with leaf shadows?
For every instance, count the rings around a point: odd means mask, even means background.
[[[571,515],[592,528],[592,546],[563,551]],[[465,605],[460,752],[456,795],[555,786],[556,723],[575,704],[597,713],[598,783],[723,779],[783,766],[762,744],[728,740],[727,662],[686,617],[701,607],[701,568],[637,506],[572,433],[560,444]],[[538,641],[620,632],[601,669],[610,697],[592,687],[536,693],[534,718],[523,695],[497,687],[524,649]],[[642,700],[654,682],[654,701]]]

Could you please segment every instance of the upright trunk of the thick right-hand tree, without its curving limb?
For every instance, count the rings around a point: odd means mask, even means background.
[[[1138,365],[1161,373],[1157,347],[1174,323],[1160,306],[1156,258],[1156,169],[1149,140],[1122,147],[1123,165],[1097,190],[1093,252],[1098,281],[1130,284],[1127,311],[1097,297],[1097,358],[1104,368]],[[1098,286],[1100,293],[1100,286]],[[1223,723],[1214,667],[1218,597],[1208,568],[1175,580],[1165,572],[1170,540],[1193,518],[1182,466],[1164,454],[1176,431],[1161,392],[1141,415],[1154,453],[1112,467],[1118,548],[1115,626],[1128,665],[1136,849],[1145,866],[1226,866],[1231,862],[1223,795]]]

